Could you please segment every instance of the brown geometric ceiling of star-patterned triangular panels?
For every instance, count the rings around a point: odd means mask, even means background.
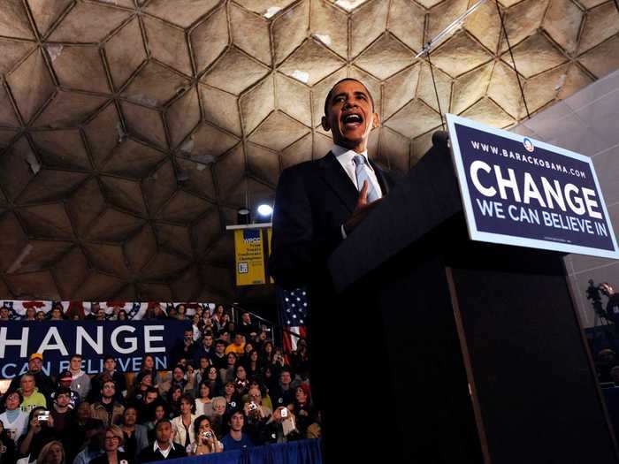
[[[232,300],[225,224],[324,156],[352,76],[370,156],[408,171],[440,125],[424,42],[473,0],[3,0],[0,297]],[[619,68],[614,0],[500,0],[531,114]],[[432,53],[440,107],[526,117],[493,0]]]

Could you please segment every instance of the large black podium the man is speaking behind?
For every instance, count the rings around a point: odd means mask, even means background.
[[[324,401],[327,463],[619,462],[562,254],[469,240],[447,146],[328,264],[323,313],[353,341]]]

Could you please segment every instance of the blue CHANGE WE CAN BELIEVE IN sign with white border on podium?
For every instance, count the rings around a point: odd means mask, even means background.
[[[619,258],[590,158],[447,114],[472,240]]]

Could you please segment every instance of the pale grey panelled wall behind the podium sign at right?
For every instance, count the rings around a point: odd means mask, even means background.
[[[619,232],[619,71],[593,82],[569,98],[521,123],[516,133],[591,156],[606,200],[608,214]],[[586,298],[589,279],[609,282],[619,291],[619,261],[585,255],[565,258],[569,284],[585,327],[595,321]],[[606,297],[602,297],[606,307]]]

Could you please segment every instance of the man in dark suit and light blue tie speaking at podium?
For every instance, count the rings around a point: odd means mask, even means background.
[[[370,133],[378,125],[367,87],[358,80],[340,80],[326,95],[322,118],[323,128],[332,133],[331,151],[282,171],[277,187],[269,270],[278,285],[306,285],[310,291],[311,382],[317,407],[323,411],[325,437],[333,436],[330,429],[339,428],[338,409],[344,411],[344,405],[329,395],[342,363],[349,361],[336,358],[341,354],[340,340],[348,338],[347,331],[355,331],[352,315],[333,308],[326,262],[394,186],[390,173],[368,159]]]

